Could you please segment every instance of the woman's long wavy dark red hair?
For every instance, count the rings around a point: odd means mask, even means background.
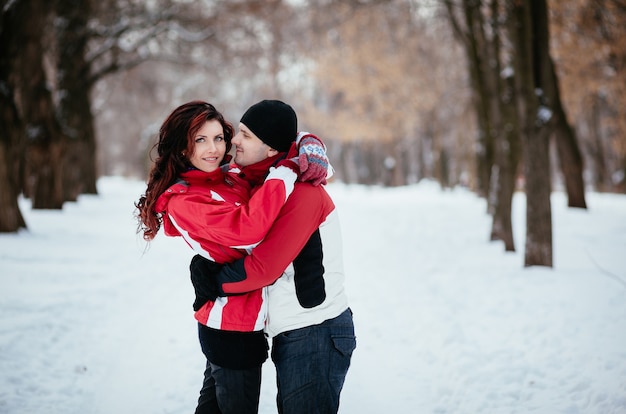
[[[157,199],[176,182],[181,173],[191,167],[188,159],[193,155],[196,132],[205,122],[212,120],[218,121],[224,129],[228,153],[232,146],[233,126],[210,103],[187,102],[174,109],[161,125],[159,139],[154,144],[157,158],[150,170],[146,193],[135,203],[138,210],[137,232],[143,233],[144,240],[154,239],[163,223],[162,212],[155,211]]]

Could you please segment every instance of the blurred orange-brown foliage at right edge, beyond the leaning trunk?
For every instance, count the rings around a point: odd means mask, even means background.
[[[624,2],[551,0],[549,6],[555,70],[588,184],[597,191],[626,191]]]

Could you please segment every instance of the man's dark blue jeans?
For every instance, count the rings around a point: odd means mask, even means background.
[[[356,348],[352,311],[319,325],[283,332],[272,342],[280,414],[339,410],[339,394]]]

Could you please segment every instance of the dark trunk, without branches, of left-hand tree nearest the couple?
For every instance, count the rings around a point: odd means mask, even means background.
[[[96,194],[96,138],[91,112],[91,70],[85,59],[89,39],[89,0],[64,0],[57,5],[57,83],[59,122],[67,140],[64,199]]]

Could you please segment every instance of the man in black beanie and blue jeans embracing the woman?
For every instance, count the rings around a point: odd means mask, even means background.
[[[284,125],[289,126],[289,133],[282,133]],[[293,109],[280,101],[261,101],[241,118],[232,141],[234,162],[245,175],[246,169],[289,149],[296,137]],[[311,136],[298,138],[300,147],[306,149]],[[316,139],[310,142],[309,155],[316,152],[318,143]],[[341,243],[337,212],[324,187],[297,182],[251,255],[219,272],[205,266],[199,256],[192,260],[192,280],[204,295],[228,296],[268,286],[266,333],[272,338],[279,413],[336,413],[339,409],[356,347],[344,291]]]

